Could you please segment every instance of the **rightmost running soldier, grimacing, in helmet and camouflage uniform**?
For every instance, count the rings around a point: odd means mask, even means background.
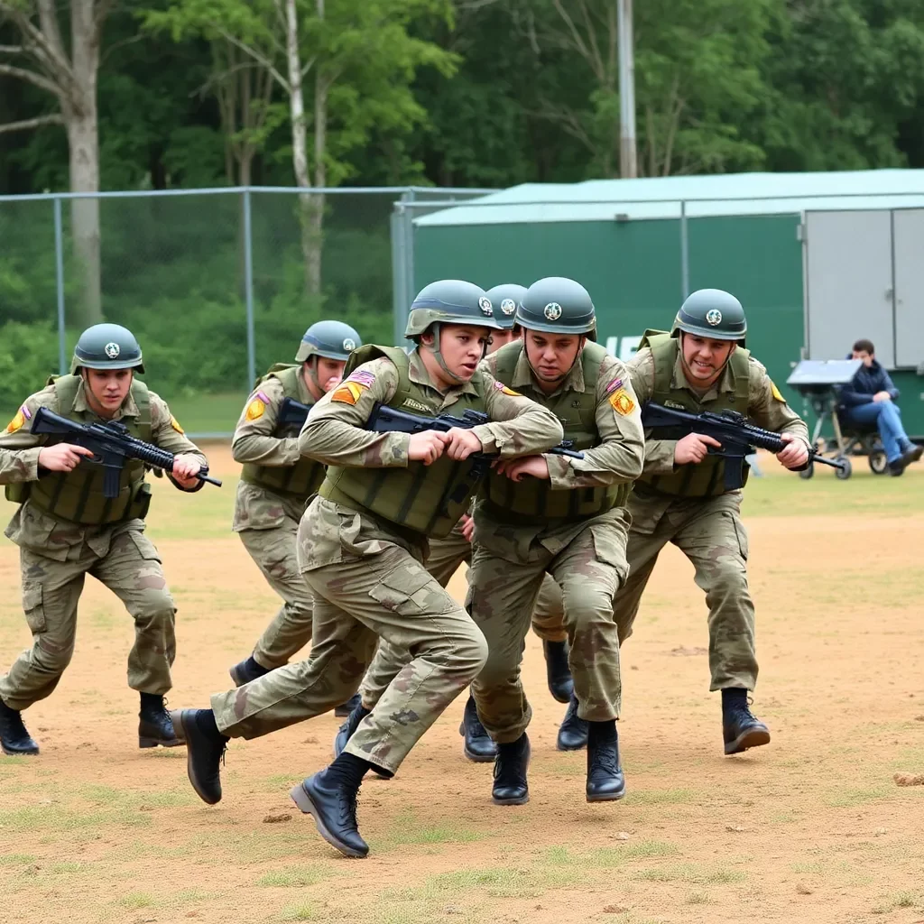
[[[648,331],[629,362],[638,400],[665,407],[736,410],[786,442],[777,458],[797,470],[808,462],[808,429],[744,349],[741,303],[720,289],[694,292],[673,331]],[[696,568],[709,607],[712,690],[722,690],[726,754],[768,744],[767,726],[748,709],[757,682],[754,604],[748,591],[748,536],[741,491],[724,488],[724,463],[708,455],[719,443],[699,433],[646,430],[645,468],[629,501],[629,578],[616,595],[619,638],[632,634],[638,602],[658,559],[673,542]]]

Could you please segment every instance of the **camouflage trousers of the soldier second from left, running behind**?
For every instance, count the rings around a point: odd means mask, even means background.
[[[274,529],[242,529],[237,535],[267,583],[283,599],[273,622],[253,648],[258,664],[280,667],[311,638],[311,590],[298,570],[298,520],[286,517],[283,525]]]

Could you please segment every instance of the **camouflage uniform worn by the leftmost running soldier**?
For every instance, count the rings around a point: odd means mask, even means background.
[[[0,484],[29,486],[39,479],[39,450],[47,438],[33,435],[26,425],[39,407],[80,422],[99,422],[87,403],[82,381],[75,383],[75,378],[63,376],[30,395],[6,432],[0,434]],[[65,387],[74,397],[67,407],[60,407],[58,391]],[[174,455],[195,456],[205,466],[205,456],[184,435],[166,402],[138,380],[114,419],[134,425],[140,417],[139,395],[145,395],[150,403],[151,442]],[[93,468],[98,470],[81,463],[64,480],[79,483]],[[57,473],[42,477],[54,479]],[[199,488],[201,482],[192,490]],[[79,513],[70,519],[57,509],[55,515],[46,513],[35,497],[27,499],[13,515],[6,537],[19,546],[22,602],[33,643],[0,678],[0,699],[10,709],[27,709],[57,686],[74,651],[78,601],[87,574],[112,590],[135,621],[135,644],[128,654],[128,686],[152,694],[164,694],[172,686],[176,608],[157,550],[143,532],[148,495],[146,491],[140,494],[143,496],[132,501],[127,517],[114,522],[101,518],[97,525],[81,522],[85,517]],[[93,501],[90,498],[89,503]]]

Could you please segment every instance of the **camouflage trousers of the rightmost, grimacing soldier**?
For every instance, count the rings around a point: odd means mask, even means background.
[[[632,634],[658,554],[673,542],[693,563],[697,586],[706,592],[710,689],[754,689],[754,603],[748,590],[748,533],[741,523],[741,492],[708,500],[670,500],[644,489],[639,492],[637,485],[629,511],[629,577],[614,603],[619,638],[625,642]]]

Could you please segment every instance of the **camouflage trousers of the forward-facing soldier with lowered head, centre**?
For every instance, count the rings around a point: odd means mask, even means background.
[[[626,579],[629,517],[616,508],[581,523],[539,529],[475,520],[468,612],[488,642],[488,661],[472,684],[478,716],[494,741],[516,741],[532,710],[520,681],[529,618],[542,579],[562,590],[568,664],[577,714],[590,722],[619,715],[619,638],[613,599]]]

